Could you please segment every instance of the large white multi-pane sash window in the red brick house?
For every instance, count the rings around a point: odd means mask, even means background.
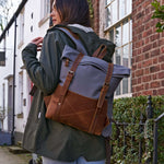
[[[131,0],[106,0],[106,32],[109,40],[116,44],[114,63],[131,68],[132,21]],[[131,93],[131,78],[124,79],[117,87],[116,95]]]

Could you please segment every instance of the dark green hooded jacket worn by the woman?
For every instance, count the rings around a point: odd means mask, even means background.
[[[60,26],[61,25],[57,25]],[[25,132],[23,148],[54,160],[71,162],[79,156],[87,161],[105,159],[105,142],[103,137],[89,134],[69,126],[45,118],[46,107],[44,96],[51,94],[59,81],[60,57],[65,45],[75,48],[74,43],[63,32],[56,28],[47,31],[44,38],[40,59],[36,58],[36,45],[28,44],[22,51],[26,71],[37,86],[34,93]],[[67,26],[80,36],[89,56],[101,44],[108,46],[104,60],[110,62],[115,45],[106,39],[99,39],[94,32],[84,32],[78,27]]]

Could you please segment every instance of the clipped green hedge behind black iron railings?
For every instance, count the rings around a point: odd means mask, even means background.
[[[116,136],[113,125],[113,155],[114,164],[139,163],[139,148],[142,150],[140,163],[152,162],[153,124],[154,118],[164,113],[164,96],[153,96],[153,118],[147,119],[148,97],[126,97],[114,101],[114,119],[119,125],[120,134]],[[159,164],[164,163],[164,118],[159,122]],[[139,147],[140,144],[140,147]]]

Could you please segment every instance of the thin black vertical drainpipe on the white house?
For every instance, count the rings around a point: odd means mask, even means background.
[[[11,142],[14,144],[14,129],[15,129],[15,58],[16,58],[16,15],[14,16],[14,56],[13,56],[13,115],[12,115],[12,132]]]

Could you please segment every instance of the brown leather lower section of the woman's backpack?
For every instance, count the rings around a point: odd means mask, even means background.
[[[101,110],[96,112],[98,99],[84,97],[68,91],[62,104],[60,104],[59,97],[61,90],[62,86],[58,85],[50,96],[44,97],[47,106],[46,118],[99,136],[104,127],[109,124],[106,115],[107,101],[104,101]],[[91,128],[92,122],[93,126]]]

